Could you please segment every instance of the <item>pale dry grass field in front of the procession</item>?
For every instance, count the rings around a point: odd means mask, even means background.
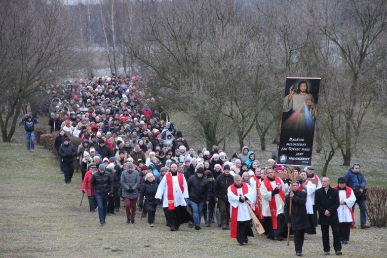
[[[50,151],[37,146],[34,153],[28,153],[21,138],[20,143],[0,143],[0,162],[1,257],[295,256],[292,239],[286,246],[285,241],[255,235],[249,244],[238,246],[229,238],[229,231],[217,227],[196,231],[182,225],[180,231],[170,232],[160,207],[154,228],[139,219],[138,211],[136,225],[126,225],[123,203],[121,211],[108,216],[106,226],[100,228],[98,213],[88,211],[87,198],[79,206],[81,173],[74,173],[71,185],[65,185]],[[344,170],[337,166],[332,171],[336,169],[337,175]],[[366,176],[372,185],[384,183],[380,172]],[[378,179],[371,179],[373,176]],[[358,229],[352,230],[350,244],[343,245],[344,255],[386,256],[387,229],[359,229],[358,211]],[[323,256],[319,228],[317,232],[306,235],[303,256]]]

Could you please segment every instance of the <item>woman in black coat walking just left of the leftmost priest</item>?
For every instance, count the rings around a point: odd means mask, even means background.
[[[154,216],[156,215],[157,202],[154,196],[157,192],[157,182],[152,173],[145,176],[145,183],[141,185],[138,207],[144,208],[148,213],[148,223],[153,228]]]

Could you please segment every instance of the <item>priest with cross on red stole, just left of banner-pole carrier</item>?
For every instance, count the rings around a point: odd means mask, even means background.
[[[289,186],[274,175],[272,168],[267,168],[265,175],[266,178],[261,184],[263,228],[267,233],[267,238],[277,238],[278,241],[282,241],[286,234],[283,205]]]

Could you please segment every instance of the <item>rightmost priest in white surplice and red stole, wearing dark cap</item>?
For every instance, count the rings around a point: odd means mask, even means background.
[[[340,206],[337,208],[337,215],[339,217],[339,234],[342,244],[347,244],[350,241],[351,226],[354,226],[354,212],[352,207],[355,205],[356,197],[352,188],[345,186],[345,178],[339,177],[337,179],[337,189],[339,192]]]

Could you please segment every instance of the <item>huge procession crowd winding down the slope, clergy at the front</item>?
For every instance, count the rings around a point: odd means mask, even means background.
[[[335,187],[328,177],[320,180],[313,166],[294,167],[292,184],[284,176],[292,171],[276,164],[278,150],[262,163],[248,146],[230,158],[218,146],[190,148],[156,99],[145,94],[141,78],[112,75],[74,82],[71,98],[50,107],[51,132],[59,131],[55,148],[64,181],[71,183],[74,169],[81,170],[82,192],[90,212],[98,209],[101,227],[106,215],[120,211],[122,200],[127,224],[135,224],[138,207],[154,227],[161,204],[171,231],[182,224],[201,230],[204,217],[204,225],[230,230],[244,245],[253,236],[253,215],[268,239],[284,240],[290,227],[298,256],[304,234],[316,234],[318,224],[325,254],[330,251],[329,226],[335,253],[341,254],[341,244],[349,242],[354,227],[355,203],[361,210],[361,228],[369,228],[366,180],[359,164]],[[36,122],[22,120],[26,137]],[[77,150],[68,135],[82,140]],[[27,142],[27,149],[33,150],[33,143]]]

